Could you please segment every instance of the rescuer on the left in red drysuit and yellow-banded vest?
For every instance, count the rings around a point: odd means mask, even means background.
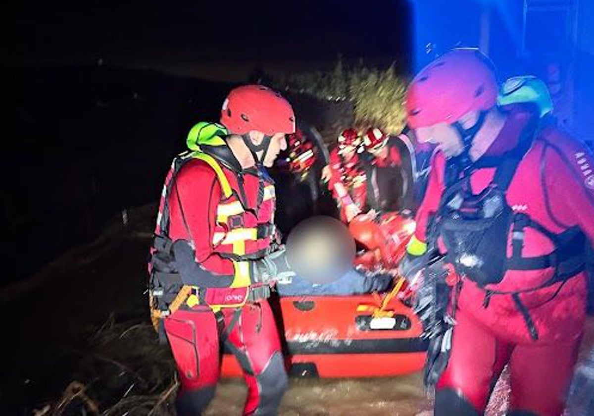
[[[276,257],[274,185],[264,166],[286,148],[295,116],[280,94],[242,86],[223,103],[221,123],[166,178],[150,266],[154,313],[178,368],[179,415],[210,402],[222,346],[244,370],[244,414],[273,415],[287,376],[267,301],[277,270],[262,260]]]

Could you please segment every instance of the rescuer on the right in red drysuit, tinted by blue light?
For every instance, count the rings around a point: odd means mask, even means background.
[[[405,263],[437,245],[456,270],[455,324],[430,346],[450,355],[432,362],[443,371],[432,374],[437,416],[482,414],[505,364],[509,414],[562,414],[583,334],[594,159],[531,106],[497,106],[497,94],[491,62],[472,49],[441,56],[407,92],[410,128],[438,146]]]

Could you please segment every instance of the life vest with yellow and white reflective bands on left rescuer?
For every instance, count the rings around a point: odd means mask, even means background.
[[[270,297],[270,286],[252,284],[249,260],[261,259],[270,253],[271,242],[276,235],[273,223],[273,182],[258,171],[260,187],[257,204],[255,207],[248,207],[242,186],[242,176],[238,175],[238,189],[232,188],[216,157],[206,151],[208,146],[203,147],[204,149],[195,147],[197,150],[184,152],[176,157],[163,187],[149,266],[151,317],[157,329],[162,326],[161,318],[180,307],[191,308],[201,304],[217,312],[220,308],[239,308],[247,302],[256,302]],[[168,198],[170,191],[175,187],[175,177],[179,170],[193,159],[200,159],[213,169],[222,190],[222,198],[217,205],[216,224],[211,244],[214,252],[233,261],[235,271],[228,287],[199,287],[184,284],[176,268],[173,252],[175,242],[168,235],[170,223]],[[181,200],[178,199],[178,203],[188,239],[191,240]],[[268,212],[268,215],[262,215],[263,212]]]

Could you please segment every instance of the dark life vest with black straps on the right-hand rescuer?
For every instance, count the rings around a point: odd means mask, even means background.
[[[470,176],[473,169],[481,167],[480,163],[463,171],[456,164],[456,158],[448,160],[445,191],[438,212],[431,220],[430,235],[434,241],[432,244],[437,244],[437,239],[441,238],[447,250],[445,260],[453,265],[457,275],[477,283],[485,291],[485,308],[493,295],[511,296],[526,322],[531,338],[536,340],[538,331],[520,300],[520,294],[565,282],[582,272],[585,237],[577,227],[555,234],[526,213],[514,212],[508,205],[506,191],[532,137],[533,131],[527,140],[520,140],[516,149],[498,157],[494,161],[496,163],[489,163],[490,166],[497,166],[494,178],[478,194],[472,193]],[[526,228],[533,228],[545,235],[554,245],[554,250],[544,256],[523,256]],[[512,250],[511,257],[508,257],[510,232]],[[549,267],[554,268],[554,275],[541,285],[514,292],[494,289],[507,270],[544,270]]]

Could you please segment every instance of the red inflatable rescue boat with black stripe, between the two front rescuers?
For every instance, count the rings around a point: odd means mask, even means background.
[[[290,374],[384,377],[421,370],[426,350],[421,323],[397,298],[387,302],[383,316],[374,317],[378,300],[372,294],[280,298]],[[222,375],[241,376],[233,355],[223,356]]]

